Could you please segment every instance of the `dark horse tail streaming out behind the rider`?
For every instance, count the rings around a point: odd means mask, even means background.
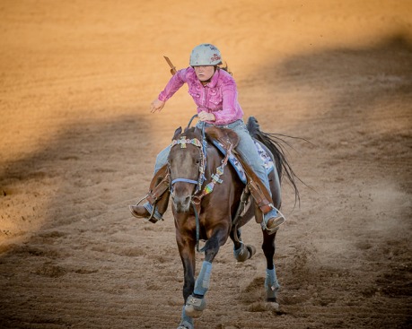
[[[276,163],[276,170],[279,179],[282,181],[282,177],[285,176],[289,180],[289,182],[294,188],[295,200],[300,202],[301,199],[299,195],[299,190],[296,186],[296,179],[299,179],[299,177],[297,177],[294,174],[294,170],[291,168],[285,156],[285,150],[282,146],[282,143],[288,143],[285,142],[285,140],[283,140],[282,138],[280,138],[281,136],[289,136],[262,132],[260,130],[258,120],[255,117],[249,117],[247,127],[250,135],[260,143],[263,143],[267,147],[267,149],[272,153]]]

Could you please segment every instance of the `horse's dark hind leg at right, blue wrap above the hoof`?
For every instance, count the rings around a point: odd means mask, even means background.
[[[263,231],[262,249],[267,260],[265,290],[267,301],[270,302],[276,302],[277,291],[280,289],[280,285],[276,278],[276,268],[273,261],[275,255],[275,238],[276,233],[269,235],[266,231]]]

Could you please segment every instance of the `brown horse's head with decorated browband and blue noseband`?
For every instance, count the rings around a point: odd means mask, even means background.
[[[176,212],[188,212],[192,196],[201,186],[204,172],[202,134],[197,128],[174,133],[169,153],[171,201]]]

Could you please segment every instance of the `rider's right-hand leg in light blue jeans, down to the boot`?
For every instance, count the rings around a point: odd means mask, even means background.
[[[236,125],[238,124],[239,125]],[[269,180],[267,178],[267,172],[263,161],[260,159],[259,153],[256,150],[255,143],[251,138],[246,125],[242,122],[236,122],[234,125],[229,126],[236,134],[239,135],[240,141],[236,147],[236,151],[241,154],[241,158],[249,164],[250,168],[254,171],[256,176],[262,183],[259,186],[261,189],[266,189],[267,194],[272,198],[272,193],[269,186]],[[259,182],[257,182],[259,184]],[[285,217],[277,212],[273,207],[272,199],[270,199],[270,207],[265,210],[262,227],[267,229],[268,232],[275,232],[279,225],[285,221]]]

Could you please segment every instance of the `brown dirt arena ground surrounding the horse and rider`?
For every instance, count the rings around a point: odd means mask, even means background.
[[[175,328],[182,267],[171,212],[152,224],[156,154],[195,112],[191,49],[221,49],[245,118],[291,139],[278,310],[258,253],[215,259],[197,328],[412,327],[412,2],[2,0],[0,327]],[[197,264],[202,255],[197,255]],[[199,266],[197,266],[199,267]]]

